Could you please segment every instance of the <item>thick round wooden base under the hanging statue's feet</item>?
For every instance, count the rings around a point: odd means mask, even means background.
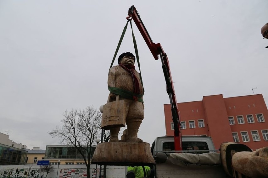
[[[141,166],[155,164],[150,144],[144,142],[104,142],[97,145],[92,164]]]

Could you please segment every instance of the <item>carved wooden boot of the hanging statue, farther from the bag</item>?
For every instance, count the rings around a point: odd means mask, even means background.
[[[125,130],[126,132],[122,135],[125,142],[143,142],[142,139],[137,137],[140,125],[141,122],[138,121],[127,123],[127,129]]]

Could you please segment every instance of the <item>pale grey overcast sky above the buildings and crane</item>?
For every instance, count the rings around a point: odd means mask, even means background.
[[[268,103],[266,0],[0,1],[0,132],[27,148],[59,144],[48,131],[62,113],[107,102],[107,75],[135,5],[154,43],[168,55],[177,102],[203,96],[263,94]],[[161,61],[134,33],[144,83],[138,137],[165,135],[169,103]],[[119,54],[134,53],[130,27]],[[136,65],[137,66],[137,65]]]

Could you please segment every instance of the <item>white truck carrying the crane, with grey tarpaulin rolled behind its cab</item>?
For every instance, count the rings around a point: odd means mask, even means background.
[[[157,137],[152,144],[156,178],[226,178],[219,150],[211,137],[182,136],[183,151],[174,151],[174,137]]]

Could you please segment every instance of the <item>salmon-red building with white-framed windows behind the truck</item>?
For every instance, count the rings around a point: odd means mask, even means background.
[[[268,146],[268,110],[262,94],[178,103],[182,135],[207,135],[216,149],[222,142],[245,144],[252,150]],[[164,105],[166,135],[174,135],[170,104]]]

